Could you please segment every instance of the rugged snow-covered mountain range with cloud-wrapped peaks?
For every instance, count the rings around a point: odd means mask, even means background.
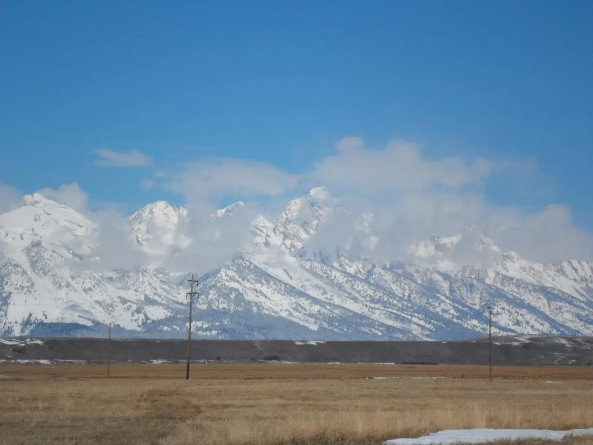
[[[216,224],[243,207],[206,217],[208,236],[221,241],[228,232]],[[593,335],[592,263],[529,262],[475,227],[410,246],[405,261],[374,263],[381,239],[373,222],[317,187],[273,222],[257,215],[247,246],[219,268],[196,271],[190,260],[167,259],[200,248],[187,228],[202,221],[158,201],[122,227],[119,242],[144,266],[106,269],[98,267],[99,224],[39,193],[25,196],[0,214],[0,335],[97,335],[113,323],[119,335],[182,336],[194,271],[192,328],[205,338],[469,338],[487,332],[487,306],[498,334]],[[328,251],[337,244],[321,241],[339,235],[341,247]]]

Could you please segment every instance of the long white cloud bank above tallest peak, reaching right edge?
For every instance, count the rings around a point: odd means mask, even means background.
[[[573,227],[568,208],[552,205],[528,213],[486,201],[485,180],[494,171],[512,176],[517,163],[429,159],[410,142],[391,141],[377,149],[352,136],[335,148],[313,170],[298,175],[261,162],[208,158],[181,171],[161,172],[160,178],[196,207],[225,195],[278,196],[283,201],[283,195],[299,195],[304,186],[326,185],[355,214],[370,210],[375,215],[374,230],[381,238],[374,253],[377,260],[405,259],[410,243],[433,235],[451,236],[470,224],[486,231],[503,249],[517,250],[532,260],[593,259],[591,234]],[[530,171],[537,177],[533,166]],[[350,222],[328,224],[311,242],[327,248],[343,245]]]

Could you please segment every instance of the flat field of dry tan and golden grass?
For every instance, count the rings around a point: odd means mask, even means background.
[[[591,367],[496,367],[505,378],[492,383],[487,367],[199,364],[189,382],[180,365],[112,365],[109,380],[105,370],[0,366],[1,443],[359,445],[450,428],[593,427]]]

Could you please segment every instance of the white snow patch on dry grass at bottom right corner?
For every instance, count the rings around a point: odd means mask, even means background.
[[[582,436],[593,434],[593,428],[585,430],[491,430],[475,428],[474,430],[445,430],[415,439],[393,439],[384,445],[452,445],[460,443],[484,443],[499,440],[547,439],[562,440],[566,436]]]

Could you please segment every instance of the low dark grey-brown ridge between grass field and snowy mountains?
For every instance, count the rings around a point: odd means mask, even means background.
[[[107,339],[0,339],[3,363],[106,363]],[[525,348],[525,345],[528,348]],[[187,341],[111,339],[111,363],[182,363]],[[217,362],[488,364],[488,341],[329,341],[195,340],[192,360]],[[508,336],[493,338],[495,365],[591,365],[592,337]],[[46,362],[47,363],[47,362]]]

